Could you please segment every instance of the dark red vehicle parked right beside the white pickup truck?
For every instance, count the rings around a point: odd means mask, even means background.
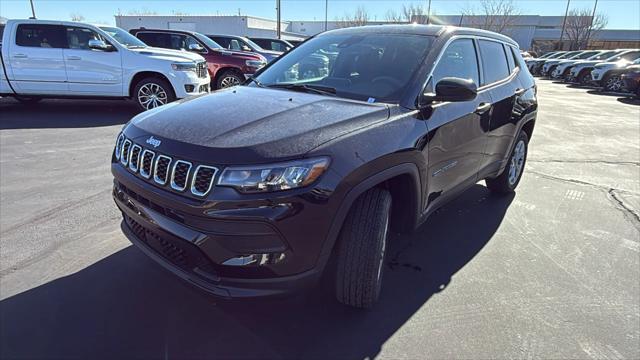
[[[267,59],[260,54],[226,50],[194,31],[141,28],[129,32],[149,46],[202,55],[207,61],[211,85],[215,89],[239,85],[267,64]]]

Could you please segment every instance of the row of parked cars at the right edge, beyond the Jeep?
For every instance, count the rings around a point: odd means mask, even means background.
[[[533,75],[640,97],[640,49],[553,51],[526,63]]]

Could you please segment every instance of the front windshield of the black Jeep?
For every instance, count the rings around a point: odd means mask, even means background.
[[[339,97],[397,103],[432,42],[422,35],[321,35],[291,50],[257,80],[259,86],[316,86],[335,89]]]

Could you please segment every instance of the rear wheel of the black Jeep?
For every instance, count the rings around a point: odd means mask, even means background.
[[[528,143],[529,138],[527,134],[524,131],[520,131],[516,139],[516,144],[513,150],[511,150],[511,155],[509,155],[509,163],[502,174],[497,178],[485,179],[489,190],[498,194],[507,194],[516,189],[516,186],[518,186],[522,178],[524,165],[527,162]]]

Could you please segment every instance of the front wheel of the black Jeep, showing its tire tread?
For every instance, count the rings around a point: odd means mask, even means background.
[[[362,194],[349,211],[338,240],[339,302],[370,308],[378,300],[390,212],[391,194],[378,188]]]

